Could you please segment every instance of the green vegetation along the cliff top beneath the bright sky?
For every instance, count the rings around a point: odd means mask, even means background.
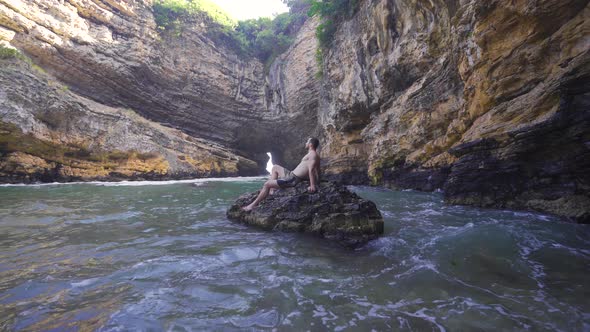
[[[201,15],[207,20],[207,35],[216,43],[242,56],[256,56],[268,66],[287,50],[307,17],[319,16],[316,36],[322,49],[330,47],[337,24],[352,17],[358,0],[282,0],[289,12],[237,22],[210,0],[156,0],[153,4],[156,24],[175,36],[182,34],[188,18]],[[205,14],[203,16],[203,14]],[[323,58],[318,50],[318,59]]]

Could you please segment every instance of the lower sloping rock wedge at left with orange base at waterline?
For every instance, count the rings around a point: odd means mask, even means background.
[[[219,144],[72,93],[24,58],[0,59],[0,86],[0,182],[258,174]]]

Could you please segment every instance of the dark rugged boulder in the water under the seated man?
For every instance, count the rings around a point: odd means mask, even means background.
[[[361,246],[383,234],[383,218],[375,203],[333,182],[322,182],[316,193],[308,193],[307,186],[303,182],[278,190],[251,212],[241,208],[258,192],[242,195],[227,217],[267,230],[311,233],[347,247]]]

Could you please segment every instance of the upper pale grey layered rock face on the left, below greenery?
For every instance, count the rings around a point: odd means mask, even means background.
[[[0,6],[5,39],[73,92],[231,145],[264,102],[263,67],[204,38],[207,22],[194,20],[177,36],[157,30],[151,1]]]

